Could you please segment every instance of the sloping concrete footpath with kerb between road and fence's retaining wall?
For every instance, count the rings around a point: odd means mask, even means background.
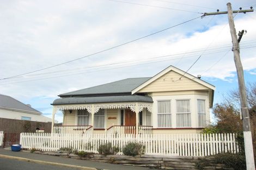
[[[12,156],[15,156],[12,157]],[[55,165],[55,166],[65,166],[66,167],[73,167],[77,169],[109,169],[109,170],[146,170],[151,169],[147,167],[137,167],[137,166],[126,166],[126,165],[115,165],[111,163],[105,162],[97,162],[97,161],[88,161],[88,160],[77,160],[71,158],[64,158],[60,156],[51,156],[51,155],[41,155],[29,152],[12,152],[11,150],[6,150],[0,148],[0,158],[5,159],[16,159],[21,161],[28,161],[34,163],[41,163],[47,165]]]

